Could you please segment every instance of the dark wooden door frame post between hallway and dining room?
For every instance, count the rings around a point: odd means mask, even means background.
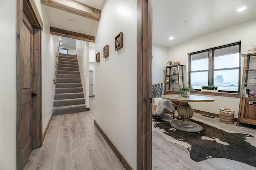
[[[152,98],[152,0],[137,0],[137,170],[152,170],[150,98]]]

